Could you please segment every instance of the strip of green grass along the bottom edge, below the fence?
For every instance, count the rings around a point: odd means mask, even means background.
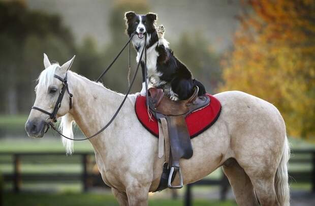
[[[33,194],[33,193],[22,193],[22,194],[4,194],[4,206],[118,206],[116,199],[112,195],[104,194]],[[183,200],[171,200],[171,199],[149,199],[150,206],[157,205],[170,205],[170,206],[181,206]],[[218,200],[205,200],[196,199],[193,205],[216,205],[216,206],[232,206],[236,205],[234,201],[218,201]]]

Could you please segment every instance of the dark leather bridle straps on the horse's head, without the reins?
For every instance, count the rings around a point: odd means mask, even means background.
[[[54,77],[59,79],[63,85],[62,85],[62,88],[59,92],[59,96],[58,96],[58,99],[56,101],[56,104],[55,104],[53,111],[50,113],[50,112],[48,112],[44,109],[41,109],[39,107],[35,107],[35,106],[31,107],[32,109],[36,109],[36,110],[39,110],[45,114],[48,114],[49,118],[51,119],[51,122],[57,122],[56,115],[57,115],[59,108],[61,107],[61,101],[62,101],[62,98],[64,98],[66,91],[69,94],[69,107],[70,107],[70,109],[72,109],[72,97],[73,97],[73,95],[69,92],[69,86],[68,86],[68,81],[67,81],[68,73],[66,73],[66,76],[63,79],[61,77],[59,77],[58,75],[55,75],[55,74],[54,74]],[[49,125],[48,125],[48,128],[49,128]],[[48,130],[48,128],[47,128],[47,130]],[[46,132],[47,132],[47,130],[46,130]]]

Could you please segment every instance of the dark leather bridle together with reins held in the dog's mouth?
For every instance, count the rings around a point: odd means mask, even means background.
[[[120,52],[117,54],[117,56],[114,58],[113,62],[107,67],[107,69],[99,76],[99,78],[96,80],[97,82],[104,76],[104,74],[111,68],[111,66],[114,64],[114,62],[117,60],[117,58],[119,57],[119,55],[121,54],[121,52],[125,49],[125,47],[127,47],[127,45],[129,44],[129,59],[130,59],[130,42],[132,40],[132,38],[134,37],[134,35],[136,34],[136,32],[134,32],[129,41],[123,46],[123,48],[120,50]],[[59,108],[61,107],[61,101],[62,99],[64,98],[64,95],[66,93],[66,91],[68,92],[69,94],[69,106],[70,106],[70,109],[72,109],[72,98],[73,98],[73,95],[70,93],[69,91],[69,86],[68,86],[68,73],[66,72],[66,76],[65,78],[61,78],[60,76],[58,75],[55,75],[54,74],[54,77],[59,79],[61,82],[62,82],[62,88],[59,92],[59,96],[57,98],[57,101],[56,101],[56,104],[54,106],[54,109],[52,112],[48,112],[44,109],[41,109],[39,107],[36,107],[36,106],[33,106],[31,107],[31,109],[36,109],[36,110],[39,110],[45,114],[48,114],[49,115],[49,119],[51,120],[50,122],[46,123],[46,126],[47,126],[47,129],[45,131],[45,133],[48,131],[49,128],[51,128],[52,130],[55,130],[58,134],[60,134],[61,136],[67,138],[67,139],[70,139],[70,140],[76,140],[76,141],[82,141],[82,140],[87,140],[87,139],[90,139],[90,138],[93,138],[95,136],[97,136],[98,134],[102,133],[106,128],[108,128],[110,126],[110,124],[114,121],[115,117],[117,116],[117,114],[119,113],[121,107],[123,106],[125,100],[127,99],[128,95],[130,94],[130,91],[131,91],[131,88],[135,82],[135,79],[136,79],[136,76],[137,76],[137,73],[138,73],[138,70],[139,70],[139,66],[140,66],[140,63],[141,63],[141,59],[142,59],[142,55],[143,55],[143,52],[145,51],[145,74],[146,74],[146,38],[147,38],[147,35],[145,34],[145,43],[144,43],[144,48],[142,49],[141,51],[141,54],[140,54],[140,61],[138,62],[138,65],[137,65],[137,68],[136,68],[136,71],[135,71],[135,74],[133,76],[133,79],[128,87],[128,90],[122,100],[122,102],[120,103],[119,107],[117,108],[116,112],[114,113],[114,115],[112,116],[112,118],[110,119],[110,121],[102,128],[100,129],[97,133],[89,136],[89,137],[86,137],[86,138],[82,138],[82,139],[73,139],[73,138],[70,138],[70,137],[67,137],[65,135],[63,135],[61,132],[58,131],[58,129],[55,128],[54,124],[55,122],[57,122],[57,119],[56,119],[56,115],[57,115],[57,112],[59,110]],[[67,71],[69,70],[69,68],[71,67],[71,65],[68,67]],[[129,61],[129,68],[130,68],[130,61]],[[148,94],[147,92],[147,82],[146,82],[146,94]]]

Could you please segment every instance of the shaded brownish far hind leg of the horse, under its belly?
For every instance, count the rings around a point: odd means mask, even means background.
[[[229,179],[238,205],[259,205],[248,175],[235,159],[228,159],[223,165],[223,171]]]

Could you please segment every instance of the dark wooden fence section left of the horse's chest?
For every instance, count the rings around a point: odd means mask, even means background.
[[[90,157],[94,157],[93,152],[81,152],[75,153],[71,156],[74,161],[65,160],[63,158],[68,158],[63,152],[30,152],[30,153],[6,153],[0,152],[0,157],[10,156],[13,161],[0,160],[1,164],[13,163],[13,172],[4,173],[4,181],[13,183],[13,191],[18,193],[21,190],[22,183],[32,182],[32,183],[41,183],[41,182],[62,182],[62,183],[72,183],[72,182],[81,182],[83,191],[87,191],[92,186],[103,186],[106,185],[103,183],[101,174],[99,173],[90,173],[88,172],[88,166],[94,164],[94,161],[90,161]],[[56,159],[51,160],[55,157]],[[47,159],[50,158],[50,159]],[[24,161],[23,161],[24,160]],[[56,164],[79,164],[81,165],[82,172],[36,172],[36,173],[23,173],[21,171],[21,166],[24,162],[27,163],[56,163]]]

